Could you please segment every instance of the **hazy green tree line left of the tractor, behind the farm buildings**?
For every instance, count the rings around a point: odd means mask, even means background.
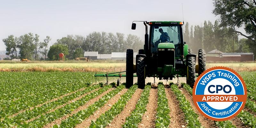
[[[3,39],[6,46],[6,55],[11,59],[29,60],[59,60],[59,53],[64,53],[65,58],[73,60],[76,57],[84,57],[84,51],[97,51],[99,54],[111,52],[126,52],[126,49],[138,51],[143,48],[143,42],[139,36],[123,33],[92,32],[87,36],[67,35],[49,47],[50,36],[46,36],[43,42],[39,41],[38,34],[24,34],[16,37],[13,35]],[[19,52],[19,53],[18,53]],[[39,58],[39,53],[44,57]]]

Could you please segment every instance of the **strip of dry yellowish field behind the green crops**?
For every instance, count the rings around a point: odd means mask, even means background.
[[[125,71],[125,63],[69,63],[50,61],[50,63],[4,63],[0,61],[0,71],[94,71],[94,72],[105,72],[105,71]],[[7,61],[9,62],[9,61]],[[57,63],[58,62],[58,63]],[[77,61],[76,61],[77,62]],[[104,62],[104,61],[102,61]],[[211,68],[215,66],[226,66],[236,71],[256,71],[256,63],[207,63],[206,67]]]

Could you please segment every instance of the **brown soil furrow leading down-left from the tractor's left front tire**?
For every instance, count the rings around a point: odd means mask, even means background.
[[[127,102],[126,106],[124,107],[124,110],[119,113],[114,119],[113,121],[108,124],[108,126],[106,128],[122,128],[122,124],[124,124],[125,122],[125,118],[131,115],[131,112],[136,108],[136,104],[138,102],[138,100],[140,99],[140,95],[141,92],[143,90],[142,89],[137,89],[134,94],[132,95],[132,98]]]

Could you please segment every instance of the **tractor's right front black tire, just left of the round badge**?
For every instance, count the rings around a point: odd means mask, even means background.
[[[196,59],[195,57],[188,57],[188,73],[187,73],[187,84],[193,88],[196,82]]]

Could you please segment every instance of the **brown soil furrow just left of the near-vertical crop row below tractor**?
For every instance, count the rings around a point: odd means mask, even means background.
[[[139,128],[154,128],[156,124],[157,89],[151,88],[149,92],[147,111],[142,116]]]

